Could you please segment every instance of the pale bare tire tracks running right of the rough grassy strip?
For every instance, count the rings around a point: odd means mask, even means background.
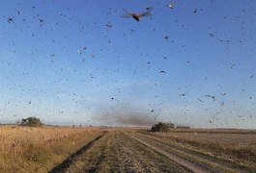
[[[196,155],[195,153],[187,152],[185,149],[180,147],[169,146],[156,138],[133,133],[132,135],[127,135],[156,150],[156,152],[167,156],[171,160],[184,165],[194,172],[249,172],[248,170],[239,169],[238,167],[231,166],[230,164],[222,164],[221,161],[213,161],[206,156],[200,156]]]

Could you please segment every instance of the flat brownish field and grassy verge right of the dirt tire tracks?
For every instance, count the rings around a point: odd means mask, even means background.
[[[179,132],[173,131],[171,133],[146,134],[168,142],[182,143],[198,150],[212,153],[215,156],[256,166],[256,134],[238,130],[229,132],[216,131],[214,133],[202,130],[179,130]]]

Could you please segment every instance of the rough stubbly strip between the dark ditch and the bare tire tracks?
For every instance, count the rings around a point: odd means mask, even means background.
[[[189,172],[122,131],[109,131],[67,172]]]

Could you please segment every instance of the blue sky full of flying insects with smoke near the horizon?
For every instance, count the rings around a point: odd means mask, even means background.
[[[255,129],[256,1],[170,3],[1,1],[0,122]]]

